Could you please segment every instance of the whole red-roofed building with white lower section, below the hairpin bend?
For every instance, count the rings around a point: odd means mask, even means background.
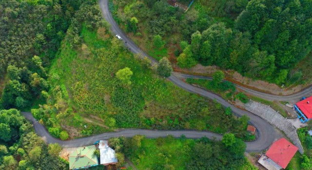
[[[285,169],[298,148],[285,138],[281,138],[271,145],[267,153],[258,162],[268,170]]]

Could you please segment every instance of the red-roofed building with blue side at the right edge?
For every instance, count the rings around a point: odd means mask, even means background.
[[[293,109],[297,112],[298,119],[305,123],[312,119],[312,96],[297,102]]]

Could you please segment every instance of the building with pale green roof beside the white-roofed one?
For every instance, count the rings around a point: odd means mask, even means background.
[[[78,170],[98,165],[98,158],[93,152],[96,150],[94,145],[77,148],[69,155],[69,169]]]

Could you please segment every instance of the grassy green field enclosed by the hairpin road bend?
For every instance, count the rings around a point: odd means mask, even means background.
[[[67,115],[66,119],[56,116],[59,119],[53,122],[74,127],[87,136],[117,127],[226,133],[232,131],[233,122],[227,119],[239,121],[224,116],[225,110],[218,103],[158,77],[108,31],[99,37],[83,26],[81,37],[84,47],[71,48],[67,39],[62,42],[49,71],[49,80],[61,97],[51,90],[54,98],[48,103],[62,108],[59,115]],[[133,72],[129,86],[121,85],[115,76],[125,67]]]

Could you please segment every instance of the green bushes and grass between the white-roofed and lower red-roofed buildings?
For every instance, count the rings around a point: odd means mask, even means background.
[[[184,135],[148,139],[144,136],[111,138],[109,143],[124,153],[139,170],[256,170],[244,157],[246,144],[234,137],[226,146],[206,137],[194,140]]]

